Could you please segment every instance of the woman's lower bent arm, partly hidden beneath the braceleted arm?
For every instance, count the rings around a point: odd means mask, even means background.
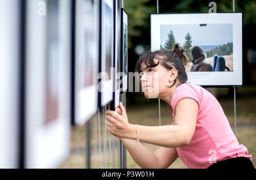
[[[136,140],[125,138],[121,140],[133,160],[143,169],[168,168],[178,157],[175,148],[159,147],[152,153],[140,142],[136,143]]]

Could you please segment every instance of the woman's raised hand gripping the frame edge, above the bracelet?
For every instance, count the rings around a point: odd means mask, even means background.
[[[117,137],[126,137],[129,133],[130,123],[128,122],[125,107],[119,103],[119,107],[115,111],[108,110],[106,112],[106,128]]]

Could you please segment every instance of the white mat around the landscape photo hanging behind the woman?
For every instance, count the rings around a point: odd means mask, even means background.
[[[151,14],[151,50],[160,49],[160,26],[233,24],[233,72],[188,72],[188,82],[202,86],[242,85],[242,13]]]

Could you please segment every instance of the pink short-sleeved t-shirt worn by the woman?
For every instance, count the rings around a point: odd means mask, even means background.
[[[191,98],[199,104],[192,140],[176,148],[188,168],[208,168],[214,162],[241,156],[252,160],[247,148],[238,143],[220,103],[203,87],[183,83],[175,89],[171,100],[174,121],[176,104],[183,98]]]

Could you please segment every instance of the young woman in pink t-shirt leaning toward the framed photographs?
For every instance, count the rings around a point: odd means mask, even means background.
[[[120,137],[141,168],[168,168],[179,157],[188,168],[254,168],[247,149],[237,141],[217,99],[201,86],[187,83],[188,58],[178,44],[172,51],[148,51],[137,61],[144,95],[158,87],[158,98],[173,110],[174,123],[130,124],[125,107],[107,111],[107,129]],[[159,82],[150,82],[154,74]],[[154,81],[155,82],[155,81]],[[152,153],[140,141],[159,145]]]

